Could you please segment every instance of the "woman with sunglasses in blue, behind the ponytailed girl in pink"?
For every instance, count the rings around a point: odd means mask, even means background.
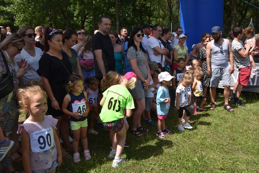
[[[86,67],[83,64],[80,63],[80,61],[83,60],[83,56],[81,56],[81,51],[84,51],[84,45],[85,45],[85,33],[81,30],[77,31],[78,37],[77,41],[78,43],[74,45],[72,48],[77,52],[79,65],[81,67],[82,74],[85,78],[90,78],[92,76],[95,76],[95,69],[93,67]],[[86,84],[85,84],[86,87]]]

